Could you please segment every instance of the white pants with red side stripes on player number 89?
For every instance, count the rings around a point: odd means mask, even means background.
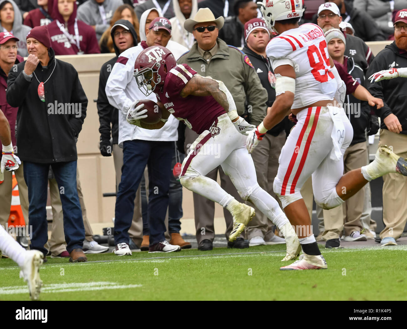
[[[298,123],[281,150],[273,184],[283,208],[302,199],[300,190],[311,175],[316,204],[331,209],[343,203],[336,193],[336,185],[344,173],[343,155],[352,141],[353,129],[344,110],[334,109],[335,116],[331,116],[328,107],[309,107],[297,114]],[[339,160],[331,158],[334,148],[331,134],[337,129],[333,118],[341,124],[336,134],[341,139]]]

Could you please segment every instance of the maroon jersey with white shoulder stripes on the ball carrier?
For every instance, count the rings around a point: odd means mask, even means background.
[[[186,83],[196,74],[188,65],[178,64],[168,72],[164,86],[155,95],[175,118],[201,134],[209,130],[215,119],[226,112],[212,96],[180,96]]]

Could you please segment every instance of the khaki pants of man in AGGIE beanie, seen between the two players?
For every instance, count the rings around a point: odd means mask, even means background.
[[[280,207],[280,200],[273,191],[273,182],[277,175],[278,157],[280,156],[281,149],[284,146],[285,138],[285,131],[280,132],[278,136],[266,134],[252,153],[254,166],[256,167],[258,184],[263,190],[278,201]],[[253,206],[253,204],[250,202],[246,201],[245,203],[249,206]],[[256,236],[264,238],[267,235],[267,232],[272,231],[271,228],[274,225],[266,215],[261,213],[255,206],[253,207],[256,211],[256,215],[249,222],[246,228],[247,239],[249,240]],[[271,235],[269,237],[270,239],[272,234],[269,233],[269,235]]]

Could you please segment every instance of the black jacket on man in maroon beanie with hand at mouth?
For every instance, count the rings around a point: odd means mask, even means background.
[[[48,54],[48,66],[38,64],[30,81],[23,74],[26,61],[9,73],[6,96],[7,103],[18,107],[18,156],[37,163],[74,161],[88,99],[77,70],[55,59],[53,48]],[[39,82],[44,82],[45,101],[38,96]]]

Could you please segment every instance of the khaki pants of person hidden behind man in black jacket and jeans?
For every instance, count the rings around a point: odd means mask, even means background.
[[[46,243],[45,248],[51,251],[52,256],[57,256],[66,250],[65,233],[63,231],[63,212],[62,203],[59,196],[58,184],[55,178],[49,179],[50,186],[50,199],[53,214],[53,221],[51,227],[51,238]],[[93,241],[93,231],[90,227],[88,217],[86,216],[85,202],[83,201],[83,194],[81,189],[81,181],[79,180],[79,170],[77,167],[77,189],[79,203],[81,204],[83,226],[85,227],[85,239]]]

